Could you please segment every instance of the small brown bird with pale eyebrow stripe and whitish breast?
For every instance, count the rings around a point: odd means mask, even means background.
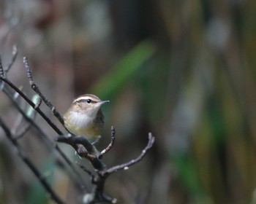
[[[97,140],[104,125],[100,107],[108,102],[93,94],[78,96],[64,114],[64,127],[75,136],[85,136],[89,141]]]

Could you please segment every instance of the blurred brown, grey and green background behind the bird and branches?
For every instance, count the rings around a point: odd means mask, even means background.
[[[108,179],[119,203],[256,203],[256,1],[1,0],[4,66],[14,44],[8,76],[30,97],[23,56],[62,114],[84,93],[110,100],[97,144],[108,144],[114,125],[109,166],[137,157],[148,132],[156,137],[142,162]],[[18,113],[0,97],[12,127]],[[81,203],[54,149],[33,131],[22,142],[61,198]],[[0,200],[52,203],[1,129]]]

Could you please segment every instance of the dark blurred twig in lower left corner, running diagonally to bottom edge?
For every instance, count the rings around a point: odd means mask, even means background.
[[[34,173],[35,176],[37,176],[37,179],[40,181],[42,186],[45,188],[45,190],[50,194],[50,197],[59,204],[64,204],[64,201],[61,200],[61,198],[56,195],[56,193],[53,191],[53,189],[50,187],[50,185],[45,181],[45,178],[41,175],[39,170],[37,170],[36,166],[31,162],[29,157],[27,157],[26,153],[23,151],[20,144],[18,144],[18,141],[16,141],[15,137],[10,132],[9,127],[4,123],[4,121],[0,118],[0,126],[3,128],[4,133],[6,134],[7,138],[12,142],[12,144],[16,147],[18,150],[18,155],[20,156],[21,160],[23,160],[24,163],[31,169],[31,171]]]

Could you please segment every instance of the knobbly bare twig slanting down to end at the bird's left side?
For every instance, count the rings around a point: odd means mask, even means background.
[[[26,74],[28,76],[29,84],[31,85],[32,90],[34,90],[34,92],[37,93],[40,98],[42,98],[42,101],[44,101],[46,106],[48,106],[50,108],[50,111],[52,111],[54,116],[57,119],[59,119],[59,122],[61,122],[62,125],[64,125],[64,119],[61,116],[61,114],[59,113],[59,111],[57,111],[56,107],[54,107],[53,104],[50,103],[50,101],[45,97],[45,95],[42,94],[41,90],[39,89],[39,87],[34,82],[34,79],[33,79],[32,74],[31,74],[31,68],[29,66],[29,61],[26,57],[23,58],[23,63],[25,64]]]

